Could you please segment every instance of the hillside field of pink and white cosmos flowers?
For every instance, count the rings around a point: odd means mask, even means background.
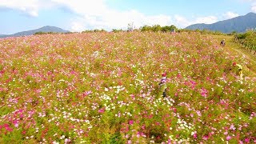
[[[0,39],[0,143],[254,143],[256,76],[210,35]],[[166,72],[167,97],[158,82]]]

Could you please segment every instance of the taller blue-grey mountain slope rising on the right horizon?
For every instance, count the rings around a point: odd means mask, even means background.
[[[185,29],[189,30],[213,30],[221,31],[222,33],[231,33],[236,31],[238,33],[246,32],[248,29],[256,29],[256,14],[249,13],[244,16],[227,19],[213,24],[194,24],[187,26]]]

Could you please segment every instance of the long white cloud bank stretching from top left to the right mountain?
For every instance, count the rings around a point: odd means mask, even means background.
[[[91,29],[123,29],[126,30],[128,23],[133,22],[135,28],[145,25],[167,26],[174,24],[178,28],[184,28],[194,23],[214,23],[218,18],[215,16],[199,17],[187,19],[180,15],[174,17],[155,14],[146,15],[138,10],[118,11],[106,6],[106,0],[0,0],[0,7],[6,7],[22,11],[31,16],[38,16],[38,11],[51,8],[65,8],[74,13],[74,18],[70,19],[71,31],[82,31]],[[234,13],[227,13],[234,16]]]

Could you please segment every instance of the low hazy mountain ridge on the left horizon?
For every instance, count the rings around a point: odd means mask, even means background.
[[[55,33],[68,33],[70,31],[68,30],[63,30],[59,27],[55,27],[55,26],[43,26],[39,29],[36,30],[28,30],[28,31],[22,31],[22,32],[18,32],[15,34],[0,34],[0,38],[6,38],[6,37],[20,37],[20,36],[26,36],[26,35],[33,35],[37,32],[55,32]]]

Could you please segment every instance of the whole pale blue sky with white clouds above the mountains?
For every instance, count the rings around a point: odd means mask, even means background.
[[[256,0],[0,0],[0,34],[42,26],[64,30],[126,30],[128,24],[185,28],[250,12]]]

